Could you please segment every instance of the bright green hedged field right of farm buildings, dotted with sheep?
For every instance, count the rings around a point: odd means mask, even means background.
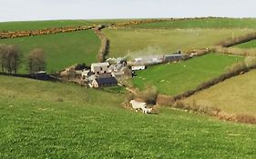
[[[239,56],[209,54],[180,63],[155,65],[138,71],[132,82],[139,89],[149,84],[157,86],[160,94],[181,94],[225,73],[227,66],[242,59]]]

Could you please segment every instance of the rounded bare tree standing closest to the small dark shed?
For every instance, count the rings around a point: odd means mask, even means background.
[[[36,48],[29,53],[28,69],[30,74],[46,69],[45,52],[43,49]]]

